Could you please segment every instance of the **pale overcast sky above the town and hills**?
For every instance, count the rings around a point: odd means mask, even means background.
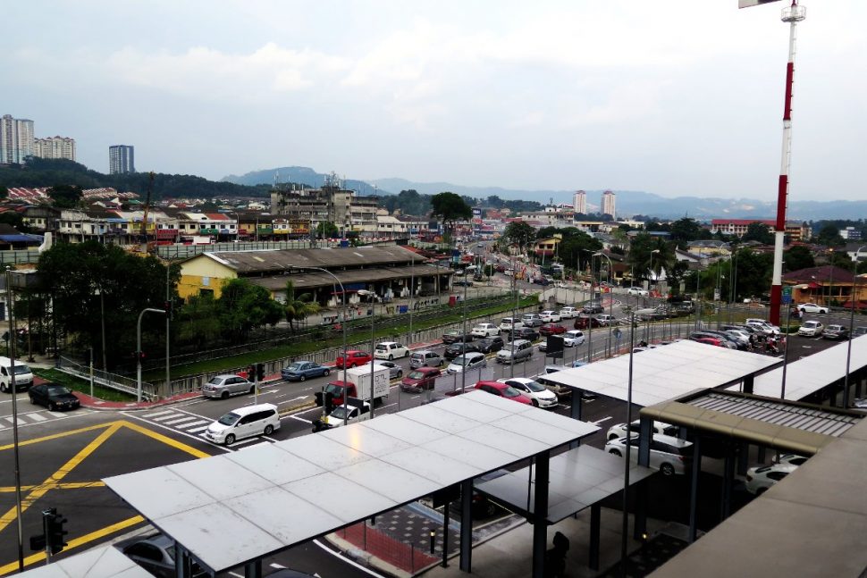
[[[127,144],[139,171],[209,179],[301,165],[772,200],[784,4],[8,2],[0,114],[100,172]],[[867,3],[804,5],[790,194],[863,198]]]

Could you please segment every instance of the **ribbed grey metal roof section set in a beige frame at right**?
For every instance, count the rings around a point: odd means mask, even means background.
[[[823,433],[838,437],[862,416],[829,411],[820,406],[791,404],[784,401],[709,391],[703,396],[685,401],[686,405],[703,407],[730,415],[760,420],[764,423],[784,425],[798,430]]]

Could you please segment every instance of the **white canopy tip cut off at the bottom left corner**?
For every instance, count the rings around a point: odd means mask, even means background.
[[[152,578],[114,546],[101,546],[19,574],[28,578]]]

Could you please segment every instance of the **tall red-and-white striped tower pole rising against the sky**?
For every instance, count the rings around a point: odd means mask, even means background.
[[[738,8],[768,4],[776,0],[738,0]],[[792,155],[792,87],[795,84],[795,38],[797,23],[807,16],[807,9],[797,0],[783,8],[781,20],[789,25],[788,62],[786,64],[786,100],[783,105],[783,155],[777,185],[777,222],[774,232],[774,272],[770,281],[770,323],[779,325],[779,306],[783,296],[783,238],[786,235],[788,168]]]

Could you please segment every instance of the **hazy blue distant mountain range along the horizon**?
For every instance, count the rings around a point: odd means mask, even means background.
[[[304,183],[321,187],[326,176],[308,167],[289,166],[279,169],[248,172],[236,176],[223,177],[223,181],[239,185],[260,185],[274,183],[279,174],[280,182]],[[487,197],[502,199],[534,200],[539,203],[572,203],[571,190],[521,190],[501,187],[464,187],[449,182],[413,182],[406,179],[345,180],[344,186],[357,190],[361,195],[396,195],[401,190],[416,189],[419,193],[435,195],[451,191],[467,197],[484,201]],[[619,215],[644,214],[665,219],[683,216],[700,221],[710,219],[773,219],[777,213],[776,202],[758,201],[747,198],[713,197],[660,197],[653,193],[636,190],[615,190],[617,193],[617,212]],[[602,190],[588,190],[587,203],[591,211],[598,211]],[[788,205],[788,218],[798,221],[821,221],[823,219],[855,219],[867,215],[867,200],[864,201],[793,201]]]

